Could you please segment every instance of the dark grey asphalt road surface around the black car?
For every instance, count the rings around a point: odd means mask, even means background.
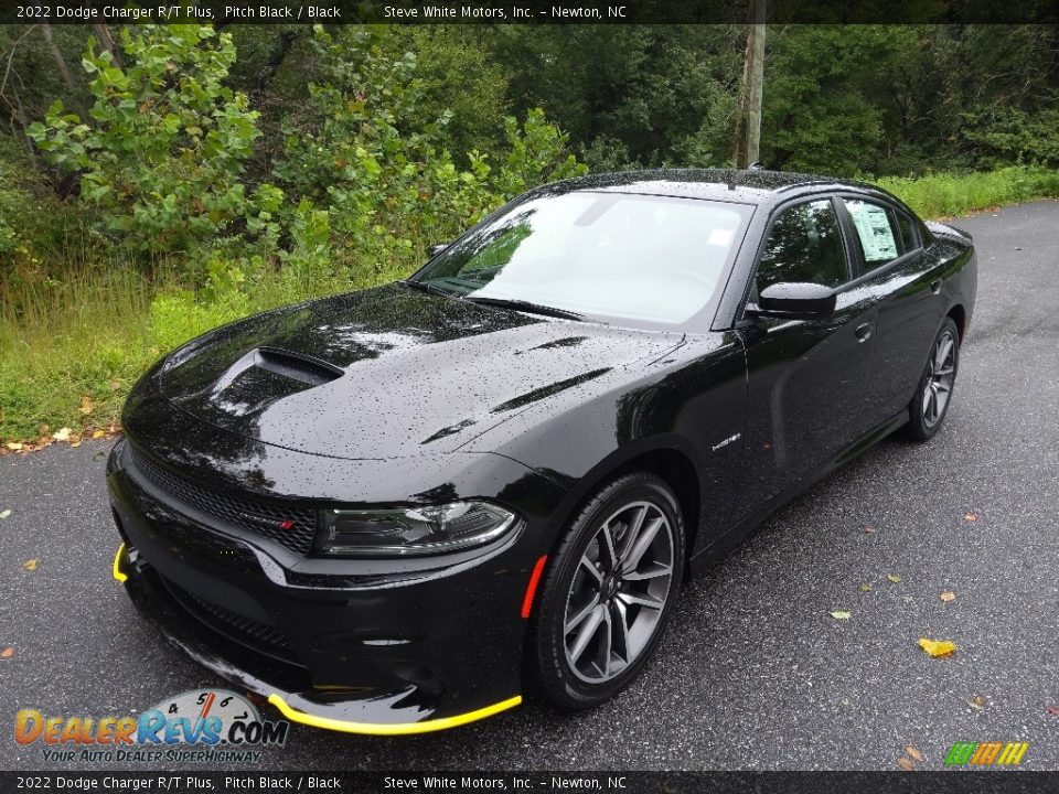
[[[426,737],[293,726],[255,769],[889,770],[907,745],[938,769],[954,741],[986,740],[1028,741],[1025,769],[1059,769],[1059,203],[959,225],[978,308],[944,429],[884,442],[694,580],[631,689],[588,713],[528,704]],[[21,708],[127,715],[217,684],[110,577],[107,449],[0,459],[0,647],[14,650],[0,769],[50,765],[12,740]],[[933,659],[919,637],[959,650]]]

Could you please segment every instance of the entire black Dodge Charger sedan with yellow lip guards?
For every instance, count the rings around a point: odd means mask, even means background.
[[[938,431],[976,287],[966,234],[766,171],[546,185],[438,248],[176,350],[110,455],[115,577],[292,720],[612,696],[685,573]]]

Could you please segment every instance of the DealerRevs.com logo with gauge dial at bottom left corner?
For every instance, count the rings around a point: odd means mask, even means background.
[[[282,747],[290,723],[263,720],[225,689],[192,689],[128,717],[54,717],[22,709],[14,740],[40,744],[46,761],[257,761]]]

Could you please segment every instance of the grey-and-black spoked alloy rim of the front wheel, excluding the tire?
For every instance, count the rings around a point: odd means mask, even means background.
[[[566,662],[581,680],[612,680],[654,636],[673,578],[673,527],[652,502],[605,521],[581,555],[563,620]]]

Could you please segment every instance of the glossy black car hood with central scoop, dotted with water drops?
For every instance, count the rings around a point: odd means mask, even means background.
[[[171,404],[228,432],[386,459],[454,450],[681,339],[389,285],[217,329],[175,351],[154,377]]]

